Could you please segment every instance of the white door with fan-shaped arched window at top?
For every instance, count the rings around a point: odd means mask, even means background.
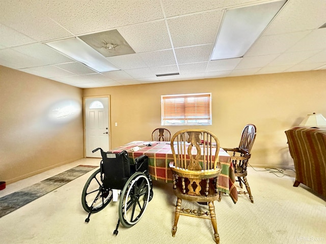
[[[101,158],[100,151],[92,150],[109,147],[108,98],[85,98],[85,140],[86,157]]]

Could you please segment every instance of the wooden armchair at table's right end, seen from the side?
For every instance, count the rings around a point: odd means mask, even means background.
[[[246,186],[246,191],[238,191],[238,194],[248,194],[249,199],[254,203],[254,198],[251,194],[251,190],[247,180],[247,166],[248,161],[251,157],[251,148],[253,147],[254,141],[256,139],[256,126],[249,124],[246,125],[241,133],[241,139],[239,146],[236,148],[224,148],[227,152],[232,154],[231,161],[234,168],[234,176],[237,177],[239,186],[242,189],[242,183]],[[221,196],[221,193],[220,193]],[[220,199],[221,200],[221,197]]]

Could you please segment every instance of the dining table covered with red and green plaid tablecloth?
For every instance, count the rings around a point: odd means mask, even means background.
[[[121,153],[127,151],[132,162],[142,155],[148,157],[148,170],[153,180],[172,182],[173,175],[169,163],[173,161],[171,143],[169,141],[132,141],[125,145],[109,150],[108,153]],[[218,190],[228,194],[234,203],[238,200],[235,185],[233,164],[230,155],[223,149],[219,151],[221,174],[218,179]],[[220,199],[221,200],[221,199]]]

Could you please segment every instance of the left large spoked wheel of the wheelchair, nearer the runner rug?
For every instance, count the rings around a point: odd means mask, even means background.
[[[112,190],[103,187],[101,170],[97,169],[87,180],[82,194],[82,205],[85,211],[98,212],[112,200]]]

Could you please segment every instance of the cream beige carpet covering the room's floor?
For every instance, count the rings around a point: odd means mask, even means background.
[[[0,196],[79,164],[98,165],[99,161],[76,161],[15,182],[0,191]],[[85,223],[87,212],[80,198],[92,172],[1,218],[0,243],[215,243],[209,220],[186,216],[180,216],[176,236],[172,237],[176,198],[172,186],[164,182],[153,182],[154,197],[143,218],[131,228],[120,226],[117,236],[113,231],[118,202],[110,203]],[[292,187],[294,173],[285,173],[290,176],[249,169],[254,204],[248,195],[239,195],[236,204],[227,195],[215,202],[221,244],[326,243],[326,202],[302,185]]]

